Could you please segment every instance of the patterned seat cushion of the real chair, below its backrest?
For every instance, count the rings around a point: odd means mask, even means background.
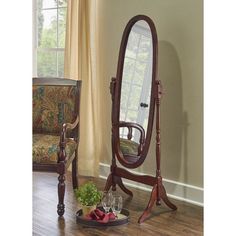
[[[33,162],[43,164],[56,164],[59,151],[60,136],[33,134]],[[71,157],[77,147],[74,140],[68,139],[66,155]]]

